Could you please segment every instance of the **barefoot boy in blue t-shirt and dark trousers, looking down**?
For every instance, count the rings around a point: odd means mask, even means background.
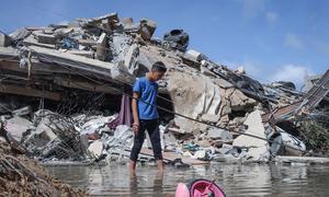
[[[129,169],[132,172],[135,172],[136,170],[136,162],[145,139],[145,130],[149,134],[158,169],[159,171],[163,170],[159,134],[159,115],[156,107],[156,100],[158,94],[157,81],[163,77],[166,71],[167,68],[163,62],[157,61],[152,65],[150,72],[147,72],[146,77],[139,78],[134,84],[132,109],[135,137],[134,147],[131,153]],[[137,101],[137,99],[139,101]]]

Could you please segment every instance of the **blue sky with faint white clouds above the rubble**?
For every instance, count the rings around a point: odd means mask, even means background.
[[[263,82],[293,81],[329,69],[326,0],[10,0],[0,30],[46,26],[117,12],[156,21],[155,37],[173,28],[190,35],[190,49]]]

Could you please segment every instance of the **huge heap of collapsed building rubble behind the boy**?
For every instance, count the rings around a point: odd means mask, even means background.
[[[168,72],[158,105],[167,162],[311,154],[299,118],[326,113],[329,71],[306,93],[292,82],[263,85],[241,68],[188,49],[184,31],[160,39],[152,37],[156,28],[151,20],[112,13],[0,34],[0,109],[9,136],[44,162],[125,161],[133,143],[125,96],[135,78],[162,61]],[[8,97],[20,105],[24,97],[26,112]],[[140,161],[151,159],[145,144]]]

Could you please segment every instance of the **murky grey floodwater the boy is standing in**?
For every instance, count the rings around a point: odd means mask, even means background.
[[[75,187],[102,196],[171,196],[177,183],[216,178],[227,196],[329,196],[329,166],[212,164],[190,169],[139,166],[129,176],[126,165],[57,166],[49,173]]]

